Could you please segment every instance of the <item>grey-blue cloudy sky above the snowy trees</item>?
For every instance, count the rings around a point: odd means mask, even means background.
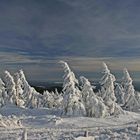
[[[102,61],[139,80],[139,13],[139,0],[0,0],[0,74],[59,81],[63,59],[91,80]]]

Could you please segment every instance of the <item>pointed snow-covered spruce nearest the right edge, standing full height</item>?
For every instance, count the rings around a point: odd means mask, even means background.
[[[123,70],[124,76],[122,79],[122,86],[124,88],[124,109],[132,111],[140,107],[138,100],[136,99],[135,89],[132,84],[132,78],[129,75],[128,70]]]

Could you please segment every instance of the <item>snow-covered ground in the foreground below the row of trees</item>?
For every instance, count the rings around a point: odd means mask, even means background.
[[[127,112],[104,119],[61,118],[56,110],[15,106],[3,107],[0,113],[4,116],[0,116],[0,140],[21,140],[24,131],[27,131],[28,140],[82,140],[85,131],[88,131],[89,139],[140,139],[138,113]]]

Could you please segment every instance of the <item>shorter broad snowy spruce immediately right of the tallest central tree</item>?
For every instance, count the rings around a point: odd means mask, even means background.
[[[85,104],[85,109],[88,117],[105,117],[107,109],[101,97],[94,94],[93,87],[84,76],[80,77],[82,86],[81,93]]]

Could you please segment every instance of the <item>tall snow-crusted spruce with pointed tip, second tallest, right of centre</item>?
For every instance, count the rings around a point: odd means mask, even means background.
[[[101,78],[101,91],[100,96],[104,100],[105,105],[107,106],[108,113],[110,115],[116,115],[123,113],[122,108],[116,103],[116,97],[114,93],[114,82],[115,76],[111,74],[107,65],[103,62],[103,77]]]

